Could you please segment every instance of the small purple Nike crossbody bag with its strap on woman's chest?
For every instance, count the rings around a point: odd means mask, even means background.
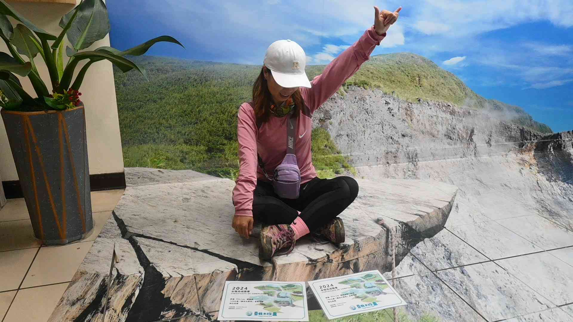
[[[295,140],[296,140],[296,116],[289,117],[286,129],[286,155],[281,164],[274,169],[273,178],[269,178],[262,163],[261,156],[258,156],[258,164],[266,178],[272,180],[274,192],[280,198],[297,199],[300,193],[300,169],[296,162]]]

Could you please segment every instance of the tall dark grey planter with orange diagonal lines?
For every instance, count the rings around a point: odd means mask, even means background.
[[[34,235],[68,244],[93,229],[84,107],[0,111]]]

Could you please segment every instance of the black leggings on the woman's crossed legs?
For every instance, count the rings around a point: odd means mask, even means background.
[[[284,199],[271,183],[259,180],[253,193],[253,219],[269,225],[291,224],[299,216],[314,231],[348,207],[358,195],[358,183],[350,176],[314,178],[301,184],[298,199]]]

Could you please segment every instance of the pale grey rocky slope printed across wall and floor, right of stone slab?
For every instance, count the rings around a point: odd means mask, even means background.
[[[554,296],[570,294],[563,281],[572,278],[573,131],[547,135],[500,113],[357,87],[327,101],[314,122],[363,178],[433,179],[460,189],[444,230],[397,266],[396,287],[411,299],[407,315],[573,319],[562,309],[570,296]]]

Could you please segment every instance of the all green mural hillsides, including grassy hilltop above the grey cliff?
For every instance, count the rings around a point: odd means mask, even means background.
[[[233,178],[238,169],[237,108],[251,99],[260,66],[152,56],[132,59],[144,66],[149,81],[135,72],[114,73],[125,167],[191,169]],[[307,66],[307,74],[312,78],[323,69]],[[348,85],[394,91],[411,101],[471,101],[474,108],[483,108],[487,101],[453,74],[407,53],[371,57],[340,93],[344,95]],[[519,107],[511,108],[523,115],[517,120],[520,124],[551,132]],[[313,163],[321,176],[352,171],[328,132],[314,129],[312,138]]]

